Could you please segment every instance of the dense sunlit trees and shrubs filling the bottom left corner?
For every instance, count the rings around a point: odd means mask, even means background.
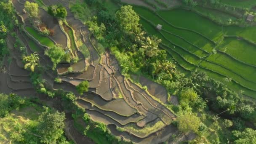
[[[69,143],[64,137],[65,114],[63,112],[60,113],[48,107],[40,108],[29,99],[22,99],[15,94],[1,93],[0,104],[0,119],[1,122],[4,121],[0,124],[3,125],[5,131],[1,130],[1,133],[5,133],[5,139],[8,141],[21,144]],[[25,114],[19,117],[20,109],[25,109],[28,117],[25,117]],[[34,110],[29,113],[28,109]],[[13,116],[13,110],[18,111],[17,117]],[[39,115],[38,112],[40,112]]]

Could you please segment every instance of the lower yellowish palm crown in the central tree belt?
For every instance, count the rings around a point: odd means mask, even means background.
[[[176,66],[172,61],[165,60],[164,62],[157,62],[157,68],[155,70],[155,75],[160,73],[166,73],[172,77],[172,74],[176,72]]]

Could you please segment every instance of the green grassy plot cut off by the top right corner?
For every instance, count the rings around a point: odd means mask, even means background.
[[[220,0],[220,3],[240,8],[252,8],[256,6],[255,0]]]

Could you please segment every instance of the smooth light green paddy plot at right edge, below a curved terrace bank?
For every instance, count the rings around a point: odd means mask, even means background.
[[[244,40],[226,37],[218,45],[220,51],[225,51],[235,59],[243,61],[247,64],[256,65],[256,46]]]

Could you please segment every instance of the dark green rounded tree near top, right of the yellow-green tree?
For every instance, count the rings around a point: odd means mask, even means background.
[[[62,5],[51,5],[48,7],[48,13],[59,19],[64,19],[67,17],[67,10]]]

